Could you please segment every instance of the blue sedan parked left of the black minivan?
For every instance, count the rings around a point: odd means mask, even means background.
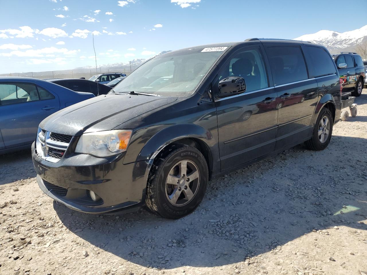
[[[0,154],[30,147],[44,118],[93,97],[36,78],[0,77]]]

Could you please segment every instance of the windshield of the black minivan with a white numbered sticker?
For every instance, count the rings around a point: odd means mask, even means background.
[[[226,48],[188,49],[156,56],[121,81],[114,91],[191,95]]]

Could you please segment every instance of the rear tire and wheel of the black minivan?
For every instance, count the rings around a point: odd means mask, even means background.
[[[325,118],[328,120],[328,126],[321,127],[321,125],[324,125]],[[330,110],[327,108],[321,109],[319,117],[317,117],[315,127],[312,131],[312,137],[305,142],[306,147],[314,151],[324,150],[330,142],[331,135],[333,133],[333,125],[334,121]],[[324,133],[324,135],[319,135],[320,131],[321,133]],[[327,133],[327,136],[325,133]]]

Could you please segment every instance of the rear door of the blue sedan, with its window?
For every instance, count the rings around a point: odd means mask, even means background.
[[[31,144],[40,122],[59,106],[57,96],[32,83],[0,83],[0,129],[5,147]]]

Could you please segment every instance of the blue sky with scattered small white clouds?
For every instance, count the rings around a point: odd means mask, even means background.
[[[1,1],[0,73],[126,63],[161,51],[242,41],[292,39],[366,25],[345,18],[345,1],[12,0]],[[346,22],[348,24],[346,24]]]

